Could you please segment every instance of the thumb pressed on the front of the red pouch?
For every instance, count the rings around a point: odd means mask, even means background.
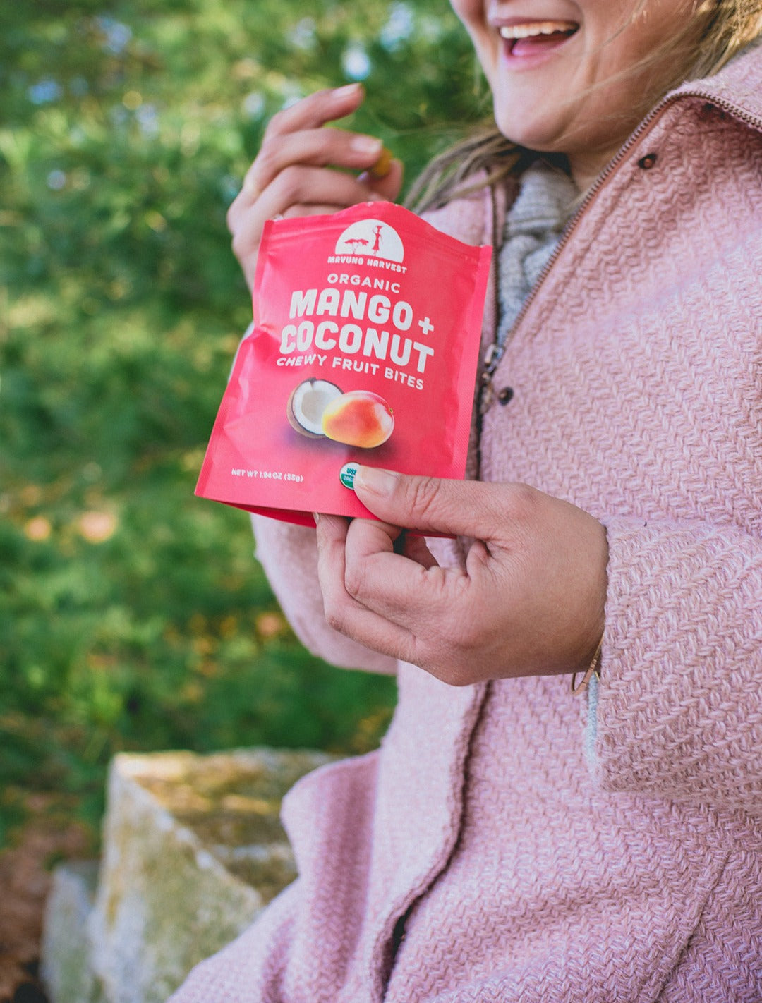
[[[354,491],[373,516],[406,530],[487,540],[495,529],[490,518],[490,484],[412,476],[358,466]]]

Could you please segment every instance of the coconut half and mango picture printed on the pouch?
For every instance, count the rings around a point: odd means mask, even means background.
[[[382,445],[395,428],[392,408],[379,394],[370,390],[343,393],[335,383],[314,377],[294,387],[286,414],[300,435],[361,449]]]

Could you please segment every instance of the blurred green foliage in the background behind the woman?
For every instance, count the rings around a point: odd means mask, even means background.
[[[0,8],[0,839],[121,748],[363,751],[390,680],[295,641],[196,475],[249,319],[225,212],[267,119],[363,78],[412,179],[484,110],[445,0]]]

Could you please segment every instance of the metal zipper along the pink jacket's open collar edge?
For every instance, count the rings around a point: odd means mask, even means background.
[[[558,243],[556,244],[552,254],[545,263],[542,271],[540,272],[537,278],[537,281],[530,290],[529,295],[524,300],[521,310],[519,311],[516,320],[513,322],[513,326],[508,332],[508,335],[503,344],[499,346],[497,342],[493,341],[493,343],[487,349],[487,354],[484,360],[484,370],[482,372],[481,386],[479,388],[478,405],[479,405],[479,416],[480,416],[480,422],[479,422],[480,432],[481,432],[481,418],[487,413],[487,411],[489,410],[495,399],[493,376],[495,375],[497,367],[500,364],[500,360],[505,354],[508,345],[513,340],[513,336],[515,332],[518,330],[519,325],[526,316],[529,308],[537,298],[537,295],[543,283],[545,282],[548,273],[550,272],[555,262],[558,260],[558,256],[561,254],[565,246],[568,244],[569,238],[577,229],[579,221],[582,219],[590,203],[593,201],[593,199],[601,190],[601,188],[606,184],[611,175],[619,168],[621,162],[624,159],[626,159],[632,147],[640,142],[640,140],[643,138],[646,132],[648,132],[654,125],[656,120],[660,118],[669,107],[671,107],[673,104],[677,103],[679,100],[685,97],[699,98],[700,100],[703,100],[707,103],[714,105],[717,108],[720,108],[722,111],[727,111],[735,118],[738,118],[739,120],[746,122],[746,124],[756,128],[757,131],[762,132],[762,118],[759,118],[756,115],[749,114],[747,111],[744,111],[742,108],[739,108],[737,105],[733,104],[732,101],[727,101],[724,98],[716,98],[711,93],[702,90],[681,91],[679,94],[674,94],[672,97],[665,98],[661,104],[658,104],[656,108],[654,108],[652,111],[649,112],[649,114],[643,119],[641,124],[634,130],[634,132],[631,133],[631,135],[624,143],[624,145],[619,149],[616,155],[611,160],[609,160],[609,162],[602,171],[602,173],[598,175],[598,177],[593,182],[592,186],[587,190],[584,198],[582,199],[582,202],[574,212],[574,215],[571,217],[569,222],[564,227]],[[493,230],[494,229],[495,227],[493,226]]]

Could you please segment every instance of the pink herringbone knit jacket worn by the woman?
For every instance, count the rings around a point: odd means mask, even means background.
[[[497,371],[479,475],[607,530],[595,691],[400,665],[382,748],[284,802],[297,881],[173,1003],[760,1003],[761,132],[762,49],[669,95]],[[478,243],[487,210],[432,219]],[[389,670],[325,624],[312,531],[256,532],[305,643]]]

